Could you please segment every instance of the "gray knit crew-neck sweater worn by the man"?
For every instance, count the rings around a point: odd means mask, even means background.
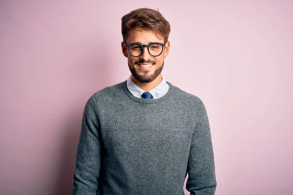
[[[209,119],[201,99],[167,82],[162,98],[134,97],[126,81],[86,102],[73,195],[214,195]]]

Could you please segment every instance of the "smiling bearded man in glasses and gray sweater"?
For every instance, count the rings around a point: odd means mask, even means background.
[[[203,102],[165,81],[170,25],[160,12],[122,18],[131,76],[84,108],[73,195],[214,195],[216,179]]]

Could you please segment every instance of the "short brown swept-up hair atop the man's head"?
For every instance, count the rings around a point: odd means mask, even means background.
[[[165,42],[170,34],[170,24],[158,10],[139,8],[122,17],[122,36],[126,42],[127,33],[133,29],[150,30],[164,37]]]

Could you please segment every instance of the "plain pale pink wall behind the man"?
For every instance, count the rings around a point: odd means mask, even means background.
[[[85,102],[130,75],[138,7],[171,24],[167,81],[206,105],[216,195],[292,195],[291,0],[1,0],[0,194],[71,194]]]

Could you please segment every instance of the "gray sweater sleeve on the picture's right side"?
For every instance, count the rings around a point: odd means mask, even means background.
[[[214,195],[216,177],[209,119],[201,100],[197,104],[196,126],[188,157],[186,189],[190,195]]]

